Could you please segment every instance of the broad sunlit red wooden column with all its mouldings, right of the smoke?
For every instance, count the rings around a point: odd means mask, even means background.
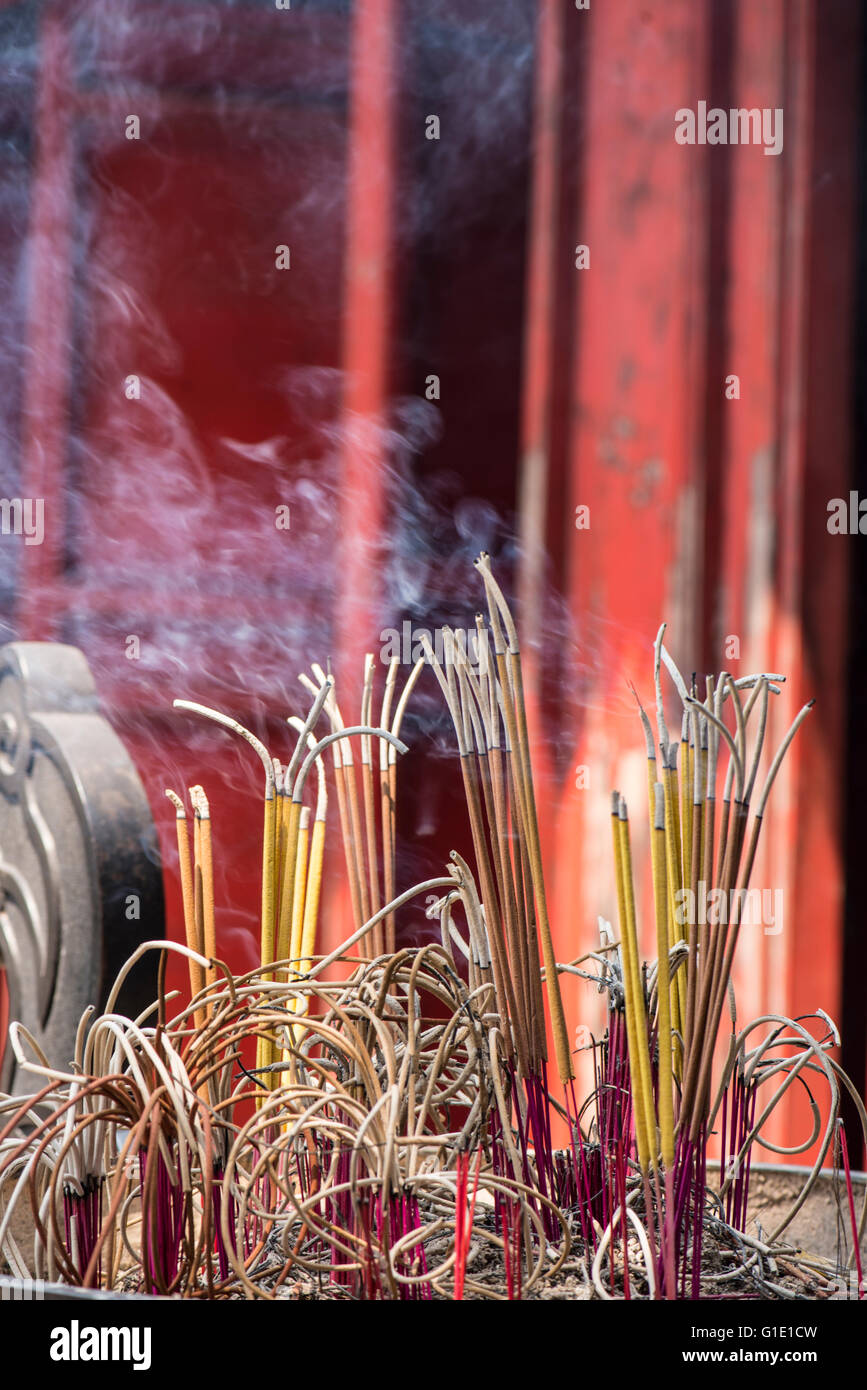
[[[666,619],[686,673],[786,673],[768,745],[818,699],[774,787],[753,873],[754,887],[782,890],[782,931],[742,931],[735,986],[742,1022],[768,1009],[835,1016],[857,541],[828,535],[827,503],[849,486],[861,21],[842,3],[743,0],[711,35],[713,15],[624,3],[567,21],[589,25],[574,239],[591,265],[575,271],[565,527],[581,712],[549,851],[557,955],[593,944],[597,912],[616,916],[611,787],[634,808],[645,867],[645,760],[627,681],[652,701],[650,644]],[[782,108],[782,153],[678,145],[674,113],[699,100]],[[739,399],[725,399],[729,374]],[[528,402],[527,420],[542,418],[538,391]],[[572,527],[579,505],[589,530]],[[574,787],[575,764],[589,769],[586,790]],[[652,955],[652,913],[642,920]],[[589,988],[567,986],[567,1006],[572,1022],[600,1026]],[[768,1133],[793,1144],[802,1122],[792,1098]]]

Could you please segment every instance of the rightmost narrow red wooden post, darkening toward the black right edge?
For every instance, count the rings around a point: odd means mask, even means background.
[[[791,705],[817,698],[785,769],[789,929],[777,938],[788,1012],[823,1006],[838,1022],[842,997],[842,798],[848,776],[848,582],[860,537],[829,535],[827,503],[848,496],[852,450],[852,317],[859,51],[863,14],[841,3],[786,7],[789,103],[803,93],[809,128],[786,196],[781,336],[781,566],[778,641],[796,684]],[[799,208],[803,208],[799,217]],[[800,295],[796,282],[803,286]],[[785,670],[785,664],[779,670]],[[863,1029],[863,1013],[861,1013]],[[861,1034],[863,1047],[863,1034]],[[861,1051],[863,1058],[863,1051]],[[863,1065],[863,1063],[861,1063]],[[864,1072],[854,1077],[863,1086]],[[806,1106],[798,1130],[804,1133]],[[809,1133],[809,1126],[806,1129]]]

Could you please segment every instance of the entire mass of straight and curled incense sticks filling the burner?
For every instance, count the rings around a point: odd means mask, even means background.
[[[722,1170],[707,1229],[727,1240],[743,1232],[752,1145],[763,1143],[768,1115],[802,1073],[810,1073],[811,1084],[813,1076],[824,1076],[831,1097],[813,1176],[838,1133],[841,1083],[867,1133],[867,1111],[828,1055],[839,1037],[821,1012],[828,1027],[821,1038],[807,1020],[778,1015],[732,1029],[721,1076],[713,1076],[768,796],[810,705],[767,758],[771,695],[781,694],[782,677],[721,673],[706,678],[699,699],[695,677],[688,688],[660,628],[656,734],[636,696],[647,751],[657,962],[641,959],[629,816],[614,792],[620,940],[600,923],[597,951],[556,965],[518,637],[488,556],[477,566],[488,603],[486,617],[477,617],[478,659],[452,630],[442,659],[427,644],[457,737],[475,873],[453,851],[447,876],[396,892],[396,756],[406,752],[399,733],[422,662],[400,695],[392,662],[379,701],[377,663],[368,656],[360,723],[349,727],[333,678],[313,666],[313,676],[300,677],[311,698],[307,714],[288,720],[295,742],[285,764],[229,716],[175,702],[242,737],[264,769],[260,965],[233,979],[218,960],[208,801],[201,787],[189,788],[190,842],[185,802],[168,790],[186,945],[139,948],[118,976],[106,1015],[93,1024],[89,1015],[82,1019],[72,1072],[54,1072],[26,1030],[10,1027],[18,1065],[49,1083],[24,1101],[0,1097],[0,1177],[11,1177],[0,1182],[0,1247],[21,1268],[19,1251],[7,1240],[11,1208],[3,1194],[10,1187],[13,1205],[21,1198],[33,1213],[54,1213],[53,1232],[42,1216],[38,1222],[49,1268],[85,1284],[101,1277],[106,1250],[106,1277],[114,1286],[119,1252],[132,1250],[125,1220],[136,1212],[143,1287],[161,1294],[213,1297],[231,1287],[271,1298],[297,1261],[297,1268],[331,1273],[354,1297],[484,1295],[468,1266],[478,1237],[502,1250],[513,1298],[532,1287],[545,1261],[554,1275],[579,1234],[599,1297],[620,1290],[642,1297],[646,1290],[650,1298],[697,1298],[703,1277],[721,1282],[732,1273],[728,1266],[709,1272],[702,1258],[707,1140],[718,1118]],[[677,739],[666,724],[663,669],[682,708]],[[320,720],[329,724],[324,737]],[[320,954],[328,749],[354,923],[333,951]],[[760,784],[763,759],[768,770]],[[431,890],[443,894],[428,909],[439,917],[442,947],[395,951],[395,913]],[[699,899],[711,905],[710,913],[696,913]],[[459,906],[465,938],[454,922]],[[467,959],[467,984],[454,947]],[[122,1020],[115,1011],[126,973],[150,949],[163,962],[153,1029],[143,1026],[144,1016]],[[192,998],[175,1019],[165,1012],[170,951],[185,955],[190,972]],[[589,959],[600,974],[579,969]],[[336,965],[349,977],[331,979]],[[581,1106],[561,972],[609,992],[609,1030],[593,1042],[595,1087]],[[557,1152],[545,995],[571,1122],[570,1148]],[[763,1036],[748,1045],[753,1030]],[[239,1077],[240,1049],[251,1037],[256,1073],[242,1065]],[[782,1055],[770,1056],[774,1048]],[[760,1087],[779,1076],[779,1090],[763,1106]],[[250,1097],[254,1106],[247,1106]],[[249,1118],[238,1115],[239,1102]],[[595,1134],[586,1136],[591,1111]],[[119,1154],[107,1138],[117,1126],[126,1136]],[[857,1248],[867,1200],[859,1223],[842,1130],[839,1145]],[[443,1211],[454,1245],[432,1264],[425,1243],[442,1232]],[[791,1215],[763,1237],[763,1252],[773,1247],[777,1257],[775,1241]],[[735,1244],[743,1257],[738,1272],[753,1277],[759,1245]],[[275,1251],[286,1255],[276,1286]],[[767,1280],[757,1287],[764,1290]]]

